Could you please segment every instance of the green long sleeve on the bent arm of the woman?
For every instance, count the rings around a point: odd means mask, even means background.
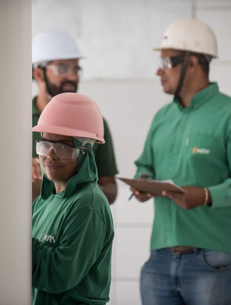
[[[105,239],[106,225],[95,210],[71,213],[56,248],[32,239],[32,286],[54,294],[72,289],[96,262]]]

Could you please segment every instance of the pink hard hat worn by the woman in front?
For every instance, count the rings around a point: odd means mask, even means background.
[[[61,93],[43,109],[33,131],[95,139],[105,143],[103,118],[91,98],[78,93]]]

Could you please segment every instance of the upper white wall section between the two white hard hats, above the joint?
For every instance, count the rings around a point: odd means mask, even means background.
[[[192,6],[192,0],[33,0],[32,3],[32,36],[47,27],[69,31],[87,56],[84,74],[88,79],[152,77],[150,61],[157,58],[152,48],[162,37],[161,25],[165,27],[175,18],[190,16]]]

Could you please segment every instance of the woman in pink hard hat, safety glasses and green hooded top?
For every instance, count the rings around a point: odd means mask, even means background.
[[[114,237],[110,206],[97,185],[92,146],[104,143],[98,105],[62,93],[33,131],[42,169],[32,208],[33,305],[109,301]]]

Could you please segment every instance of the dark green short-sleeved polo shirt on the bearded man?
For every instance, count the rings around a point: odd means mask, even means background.
[[[40,117],[40,112],[35,106],[36,97],[32,100],[32,124],[33,127],[38,124],[38,119]],[[93,152],[95,155],[96,166],[98,170],[99,177],[111,177],[118,173],[112,138],[110,130],[106,120],[103,118],[104,126],[104,139],[105,144],[94,144]],[[33,132],[33,144],[32,144],[32,157],[38,157],[36,154],[36,144],[35,141],[41,138],[39,132]]]

